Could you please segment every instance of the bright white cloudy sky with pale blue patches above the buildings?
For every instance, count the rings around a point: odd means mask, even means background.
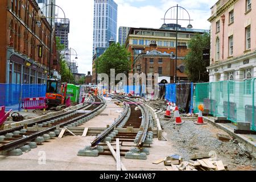
[[[118,4],[117,28],[147,27],[160,28],[166,11],[177,4],[184,7],[191,16],[191,24],[196,29],[210,28],[207,19],[210,17],[210,7],[216,1],[212,0],[114,0]],[[93,51],[93,0],[56,0],[66,18],[70,19],[69,47],[76,50],[79,65],[79,73],[92,73]],[[58,10],[56,10],[56,13]],[[59,18],[64,18],[59,10]],[[170,14],[170,15],[169,15]],[[168,17],[167,17],[168,16]],[[166,18],[171,18],[168,11]],[[184,19],[186,19],[184,15]],[[176,23],[174,20],[166,20],[166,23]],[[188,21],[179,21],[183,27],[187,27]],[[118,34],[118,30],[117,30]],[[118,35],[117,35],[118,40]],[[72,59],[75,59],[73,57]]]

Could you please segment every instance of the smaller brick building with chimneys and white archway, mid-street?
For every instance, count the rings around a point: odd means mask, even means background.
[[[175,52],[174,49],[170,51]],[[188,53],[186,46],[178,46],[177,57],[177,80],[187,81],[187,75],[184,73],[183,59]],[[175,77],[175,56],[162,53],[157,50],[155,42],[151,42],[150,51],[140,53],[134,60],[133,73],[155,73],[159,74],[158,82],[174,83]]]

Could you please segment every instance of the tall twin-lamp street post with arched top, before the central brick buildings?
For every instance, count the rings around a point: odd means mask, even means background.
[[[171,19],[167,19],[166,18],[166,14],[169,10],[171,10],[171,15],[172,15],[172,10],[174,10],[175,12],[175,8],[176,8],[176,18],[171,18]],[[180,9],[180,17],[179,16],[179,9]],[[184,19],[183,16],[184,16],[184,12],[188,14],[188,17],[189,19]],[[181,17],[181,13],[182,13],[182,17]],[[176,83],[177,82],[177,36],[178,36],[178,20],[188,20],[189,21],[189,24],[187,26],[187,28],[193,28],[192,25],[190,24],[190,21],[192,21],[192,19],[190,18],[190,15],[188,13],[188,11],[186,9],[184,9],[184,7],[181,7],[179,5],[177,6],[173,6],[171,7],[170,9],[168,9],[166,11],[166,14],[164,14],[164,24],[162,25],[162,28],[166,28],[167,27],[167,24],[166,24],[166,19],[167,20],[176,20],[176,45],[175,45],[175,48],[176,48],[176,53],[175,53],[175,77],[174,77],[174,82]]]

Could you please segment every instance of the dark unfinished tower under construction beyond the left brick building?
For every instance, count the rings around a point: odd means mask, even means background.
[[[55,35],[60,38],[60,43],[68,49],[69,19],[61,19],[55,22]],[[64,52],[63,52],[64,53]]]

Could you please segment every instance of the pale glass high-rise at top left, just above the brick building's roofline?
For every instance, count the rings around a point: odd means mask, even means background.
[[[51,4],[51,1],[53,5],[55,5],[56,0],[35,0],[38,3],[38,6],[41,9],[41,12],[46,17],[51,17],[51,6],[47,6]],[[55,9],[56,6],[52,6],[52,18],[55,17]],[[51,19],[47,19],[49,23],[51,23]],[[54,22],[54,19],[52,19],[52,22]],[[52,26],[54,26],[54,23],[52,23]]]

